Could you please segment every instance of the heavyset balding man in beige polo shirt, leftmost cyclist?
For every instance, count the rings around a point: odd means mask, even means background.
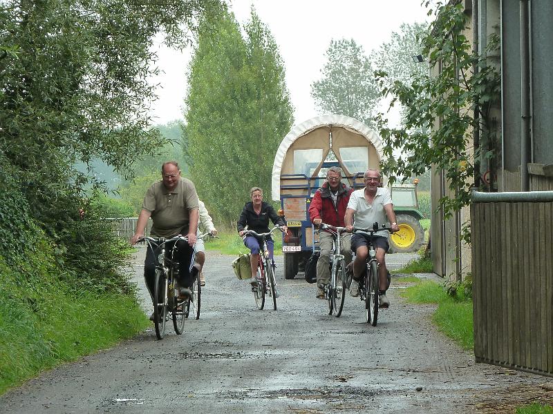
[[[152,184],[144,197],[131,244],[135,244],[140,237],[144,236],[144,229],[150,217],[153,221],[150,231],[152,237],[170,238],[186,235],[188,243],[182,240],[176,242],[176,257],[174,257],[180,264],[178,276],[180,295],[186,298],[191,294],[190,286],[198,271],[192,263],[198,230],[198,194],[192,181],[180,177],[180,169],[176,161],[165,162],[161,167],[161,175],[162,179]],[[168,254],[173,250],[173,246],[174,244],[165,244]],[[157,253],[152,252],[150,248],[146,251],[144,279],[153,299]]]

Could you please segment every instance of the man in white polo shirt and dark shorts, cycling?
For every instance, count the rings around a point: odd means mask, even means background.
[[[373,228],[375,222],[379,226],[386,224],[386,217],[391,223],[393,231],[399,230],[395,222],[395,213],[393,211],[392,197],[387,188],[380,187],[379,170],[366,170],[364,176],[365,187],[361,190],[355,190],[348,202],[346,208],[346,230],[353,231],[355,228]],[[386,297],[387,280],[386,262],[384,257],[388,251],[388,230],[380,230],[373,236],[373,246],[376,250],[376,259],[379,263],[379,304],[382,308],[390,306],[390,301]],[[366,268],[366,258],[368,256],[368,233],[358,232],[351,237],[351,250],[355,252],[353,261],[353,280],[350,285],[350,295],[359,296],[359,279]]]

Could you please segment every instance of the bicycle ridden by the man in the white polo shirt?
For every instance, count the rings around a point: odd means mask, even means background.
[[[354,228],[353,233],[364,232],[368,237],[368,256],[366,262],[365,277],[359,280],[359,297],[365,302],[365,315],[368,324],[376,326],[378,319],[378,294],[379,294],[379,264],[376,259],[376,250],[373,246],[373,236],[379,230],[388,230],[392,233],[390,227],[378,223],[373,224],[373,228]]]

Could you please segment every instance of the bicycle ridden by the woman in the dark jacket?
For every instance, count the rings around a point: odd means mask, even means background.
[[[257,284],[252,285],[252,292],[257,308],[261,311],[265,306],[265,294],[268,293],[272,297],[272,306],[274,311],[277,310],[277,282],[274,279],[274,262],[269,257],[269,249],[267,247],[267,237],[274,230],[281,230],[280,226],[274,226],[268,233],[256,233],[254,230],[244,230],[243,235],[252,235],[261,238],[261,248],[259,249],[259,263],[257,265],[256,279]],[[282,231],[282,230],[281,230]]]

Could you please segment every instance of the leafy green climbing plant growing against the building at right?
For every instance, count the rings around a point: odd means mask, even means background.
[[[383,115],[377,119],[385,142],[383,170],[392,180],[395,175],[421,175],[430,165],[444,170],[451,192],[451,197],[440,199],[446,218],[469,204],[475,162],[491,156],[481,148],[469,149],[475,128],[480,129],[481,137],[493,135],[487,115],[500,93],[500,77],[494,67],[485,56],[471,50],[465,36],[467,23],[458,2],[436,8],[435,20],[421,39],[422,55],[437,72],[435,76],[424,73],[391,83],[386,72],[377,72],[383,95],[392,97],[391,106],[399,103],[405,108],[404,126],[400,128],[389,128]],[[491,37],[487,51],[497,44],[497,38]],[[473,72],[475,67],[477,73]],[[394,156],[398,149],[402,150],[400,157]]]

